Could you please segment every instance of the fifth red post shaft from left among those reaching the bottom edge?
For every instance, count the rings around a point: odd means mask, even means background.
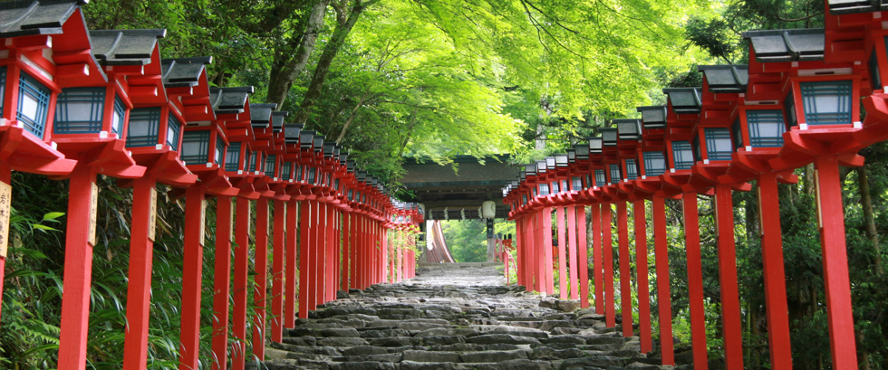
[[[256,208],[259,208],[259,204],[262,202],[263,198],[259,198],[256,201]],[[231,287],[231,291],[234,293],[231,337],[234,337],[237,341],[231,348],[231,368],[233,370],[243,370],[246,359],[246,294],[249,292],[247,274],[250,267],[250,200],[236,198],[235,206],[237,207],[237,213],[235,218],[236,245],[234,246],[235,277]],[[265,200],[265,207],[268,207],[267,200]]]

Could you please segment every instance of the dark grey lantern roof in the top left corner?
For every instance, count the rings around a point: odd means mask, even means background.
[[[62,24],[86,0],[9,1],[0,3],[0,38],[63,33]]]

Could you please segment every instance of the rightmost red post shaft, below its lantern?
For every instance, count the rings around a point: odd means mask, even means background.
[[[836,157],[821,156],[815,161],[817,205],[820,213],[820,245],[823,251],[826,315],[829,344],[835,369],[857,368],[851,283],[845,247],[845,209]]]

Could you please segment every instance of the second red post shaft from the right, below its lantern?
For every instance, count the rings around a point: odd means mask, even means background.
[[[783,265],[777,175],[765,173],[758,176],[758,207],[767,308],[767,344],[770,348],[771,368],[788,370],[793,368],[792,347],[789,345],[787,278]]]

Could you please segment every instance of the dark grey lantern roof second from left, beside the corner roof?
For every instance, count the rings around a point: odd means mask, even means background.
[[[147,65],[165,29],[93,30],[92,53],[102,65]]]

